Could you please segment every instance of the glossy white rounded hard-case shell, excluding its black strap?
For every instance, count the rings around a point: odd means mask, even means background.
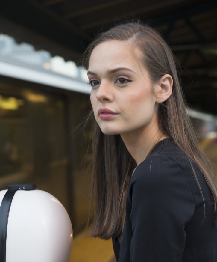
[[[0,204],[7,190],[0,191]],[[60,201],[42,190],[18,190],[7,223],[6,262],[69,262],[72,224]]]

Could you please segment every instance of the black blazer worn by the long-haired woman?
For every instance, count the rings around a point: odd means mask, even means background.
[[[213,199],[194,165],[171,139],[160,141],[136,168],[128,188],[118,262],[217,262]]]

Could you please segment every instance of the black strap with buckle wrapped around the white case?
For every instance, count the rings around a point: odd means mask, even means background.
[[[10,185],[5,193],[0,206],[0,261],[6,262],[6,239],[7,222],[9,217],[10,205],[17,190],[34,190],[35,184]]]

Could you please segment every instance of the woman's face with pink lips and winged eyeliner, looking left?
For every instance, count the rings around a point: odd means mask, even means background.
[[[156,124],[155,85],[130,43],[110,40],[96,46],[89,60],[90,100],[107,135],[151,130]]]

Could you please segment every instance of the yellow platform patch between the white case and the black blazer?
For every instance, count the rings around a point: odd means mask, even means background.
[[[116,262],[112,239],[90,238],[88,232],[76,235],[69,262]]]

